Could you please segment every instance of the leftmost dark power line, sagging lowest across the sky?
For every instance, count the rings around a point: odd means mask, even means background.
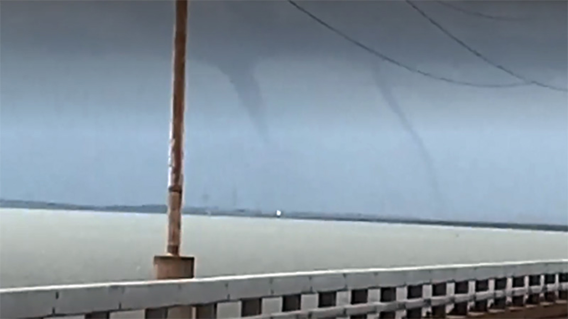
[[[303,14],[309,16],[312,20],[321,24],[321,26],[323,26],[323,27],[327,28],[328,30],[336,33],[337,35],[343,37],[343,39],[347,40],[348,42],[352,43],[353,45],[356,45],[356,47],[359,47],[359,48],[365,50],[366,52],[381,58],[382,60],[390,62],[391,64],[399,66],[400,68],[406,69],[410,72],[418,73],[418,74],[424,75],[425,77],[436,79],[438,81],[443,81],[443,82],[446,82],[446,83],[452,83],[452,84],[455,84],[455,85],[463,85],[463,86],[485,87],[485,88],[504,88],[504,87],[518,87],[518,86],[523,86],[523,85],[528,84],[527,82],[520,82],[520,83],[517,82],[517,83],[508,83],[508,84],[484,84],[484,83],[466,82],[466,81],[459,81],[459,80],[456,80],[456,79],[443,77],[441,75],[436,75],[436,74],[429,73],[429,72],[426,72],[426,71],[423,71],[423,70],[420,70],[420,69],[417,69],[417,68],[413,68],[412,66],[408,66],[406,64],[403,64],[402,62],[399,62],[399,61],[395,60],[394,58],[391,58],[391,57],[387,56],[386,54],[378,52],[377,50],[370,48],[367,45],[362,44],[361,42],[353,39],[352,37],[346,35],[344,32],[342,32],[342,31],[338,30],[337,28],[331,26],[330,24],[328,24],[324,20],[321,20],[320,18],[318,18],[318,16],[315,16],[310,11],[304,9],[302,6],[298,5],[298,3],[296,3],[295,1],[288,0],[288,2],[290,3],[290,5],[294,6],[296,9],[298,9]]]

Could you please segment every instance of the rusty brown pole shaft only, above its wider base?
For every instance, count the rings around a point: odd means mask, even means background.
[[[170,127],[168,181],[168,254],[178,256],[183,201],[183,113],[185,112],[185,60],[187,43],[187,2],[176,0],[173,48],[173,98]]]

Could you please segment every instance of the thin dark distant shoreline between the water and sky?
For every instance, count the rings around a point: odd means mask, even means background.
[[[122,213],[152,213],[166,212],[165,205],[74,205],[64,203],[35,202],[27,200],[0,199],[0,208],[21,209],[52,209],[69,211],[98,211],[98,212],[122,212]],[[544,230],[550,232],[568,232],[567,225],[558,224],[522,224],[522,223],[491,223],[483,221],[451,221],[451,220],[421,220],[412,218],[381,217],[358,213],[315,213],[315,212],[291,212],[284,211],[281,217],[276,217],[274,212],[262,212],[251,209],[224,210],[218,208],[190,207],[183,210],[184,215],[201,216],[233,216],[233,217],[260,217],[273,219],[298,219],[298,220],[327,220],[327,221],[363,221],[367,223],[386,224],[414,224],[432,226],[459,226],[470,228],[497,228],[517,230]]]

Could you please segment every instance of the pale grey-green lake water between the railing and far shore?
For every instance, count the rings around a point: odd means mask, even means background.
[[[165,215],[0,209],[0,286],[149,279]],[[197,276],[568,258],[568,234],[183,217]]]

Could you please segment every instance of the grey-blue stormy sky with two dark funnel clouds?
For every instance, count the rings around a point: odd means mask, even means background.
[[[456,2],[500,20],[416,5],[491,60],[566,87],[566,3]],[[300,4],[415,68],[519,82],[402,1]],[[172,26],[166,1],[2,1],[2,198],[165,202]],[[195,1],[189,28],[186,203],[566,222],[566,93],[423,77],[285,1]]]

